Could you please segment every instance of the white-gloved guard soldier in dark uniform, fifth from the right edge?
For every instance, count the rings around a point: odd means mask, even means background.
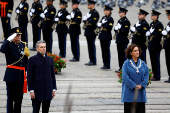
[[[102,58],[103,58],[103,67],[101,69],[110,69],[110,44],[112,40],[111,30],[113,28],[114,20],[111,17],[113,9],[109,5],[104,6],[104,14],[101,21],[97,24],[100,28],[99,39],[102,50]]]

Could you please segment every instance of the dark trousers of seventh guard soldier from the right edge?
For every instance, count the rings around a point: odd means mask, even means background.
[[[80,45],[79,45],[79,35],[70,35],[71,40],[71,50],[73,57],[79,61],[80,58]]]

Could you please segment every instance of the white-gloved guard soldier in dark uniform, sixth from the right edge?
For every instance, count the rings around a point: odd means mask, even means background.
[[[84,22],[84,36],[86,36],[87,39],[87,45],[88,45],[88,52],[89,52],[89,59],[90,61],[88,63],[85,63],[85,65],[96,65],[96,46],[95,46],[95,40],[96,40],[96,34],[95,29],[97,28],[97,22],[99,20],[99,13],[95,9],[95,1],[94,0],[88,0],[88,9],[90,9],[90,12],[87,13],[86,16],[83,17]]]

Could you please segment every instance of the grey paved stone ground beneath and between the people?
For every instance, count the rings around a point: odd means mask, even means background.
[[[19,0],[14,0],[14,9],[19,4]],[[165,1],[165,0],[164,0]],[[30,7],[32,1],[28,1]],[[54,2],[57,10],[58,0]],[[45,3],[43,3],[45,7]],[[151,0],[147,6],[142,6],[141,8],[151,12]],[[103,9],[101,7],[96,8],[100,17],[103,16]],[[71,6],[69,3],[69,12],[71,11]],[[88,10],[86,5],[80,6],[82,14],[85,15]],[[129,12],[127,17],[129,18],[131,25],[137,22],[138,8],[135,6],[128,7]],[[162,13],[160,16],[160,21],[163,22],[165,26],[168,20],[165,15],[165,9],[159,9]],[[18,26],[17,22],[14,20],[16,14],[12,15],[12,26]],[[118,17],[118,7],[114,8],[112,17],[117,23]],[[146,20],[150,23],[150,15],[147,16]],[[114,24],[116,25],[116,24]],[[1,26],[1,25],[0,25]],[[121,103],[121,84],[118,83],[118,77],[115,70],[118,69],[118,58],[117,58],[117,48],[114,40],[111,43],[111,69],[101,70],[100,67],[103,66],[101,57],[101,48],[99,40],[96,39],[96,50],[97,50],[97,65],[96,66],[85,66],[84,63],[88,62],[88,51],[87,42],[83,36],[84,31],[80,36],[80,62],[67,62],[67,68],[63,69],[61,73],[56,74],[57,87],[56,97],[51,102],[50,112],[51,113],[63,113],[63,108],[65,106],[65,99],[68,91],[68,87],[72,84],[72,90],[70,94],[70,99],[72,100],[72,113],[122,113],[123,103]],[[114,32],[112,32],[114,34]],[[2,35],[2,30],[0,30]],[[29,37],[29,48],[32,48],[32,28],[31,24],[28,24],[28,37]],[[67,57],[66,59],[72,58],[69,35],[67,36]],[[53,51],[55,53],[59,52],[58,49],[58,38],[57,34],[53,32]],[[0,44],[1,45],[1,44]],[[30,51],[31,55],[35,55],[36,52]],[[161,51],[161,81],[152,82],[147,90],[148,102],[146,103],[147,113],[169,113],[170,112],[170,84],[164,83],[164,80],[168,78],[166,64],[165,64],[165,52]],[[6,89],[5,82],[3,82],[3,76],[5,72],[5,56],[0,53],[0,113],[6,112]],[[148,67],[151,68],[149,53],[147,51],[147,63]],[[32,111],[31,100],[29,93],[24,94],[22,113],[30,113]]]

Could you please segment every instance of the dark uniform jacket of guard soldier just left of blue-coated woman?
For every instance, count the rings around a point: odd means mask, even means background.
[[[118,20],[118,23],[122,25],[122,27],[119,29],[119,33],[116,34],[116,43],[124,43],[128,44],[128,33],[130,29],[130,22],[127,19],[127,17],[120,18]]]

